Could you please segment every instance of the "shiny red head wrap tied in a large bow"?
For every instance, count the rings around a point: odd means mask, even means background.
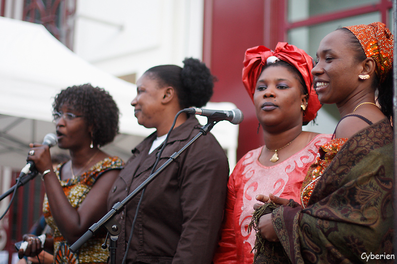
[[[254,92],[259,75],[262,72],[262,67],[266,65],[266,59],[270,56],[276,56],[278,59],[288,62],[302,74],[308,91],[308,104],[304,111],[303,122],[313,120],[317,115],[317,111],[321,108],[318,95],[312,87],[313,75],[311,71],[313,58],[303,50],[286,42],[277,43],[274,52],[265,46],[250,48],[245,52],[243,83],[251,99],[254,101]]]

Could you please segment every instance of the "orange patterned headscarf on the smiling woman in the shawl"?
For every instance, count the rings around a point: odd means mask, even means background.
[[[367,57],[375,60],[375,73],[382,83],[393,66],[393,34],[381,22],[346,28],[356,36]]]

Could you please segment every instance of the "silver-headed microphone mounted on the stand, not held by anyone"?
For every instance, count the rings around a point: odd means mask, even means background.
[[[235,125],[240,124],[244,119],[243,112],[237,108],[227,111],[227,110],[209,110],[203,108],[190,107],[184,110],[186,110],[185,112],[190,114],[199,114],[206,116],[214,121],[227,120]]]

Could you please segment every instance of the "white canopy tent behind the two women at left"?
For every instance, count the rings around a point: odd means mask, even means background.
[[[130,103],[136,95],[135,85],[92,66],[44,26],[0,17],[0,34],[0,166],[21,168],[28,143],[41,142],[47,133],[54,132],[54,97],[72,85],[91,83],[104,88],[119,106],[121,135],[105,147],[110,154],[129,157],[131,149],[153,132],[140,126],[133,116]],[[207,107],[235,108],[231,103],[211,103]],[[203,119],[200,122],[205,124]],[[227,151],[233,168],[238,126],[222,121],[211,132]]]

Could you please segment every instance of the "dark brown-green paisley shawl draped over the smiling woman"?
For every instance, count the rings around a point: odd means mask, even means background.
[[[393,164],[389,120],[354,135],[325,170],[307,208],[290,204],[272,211],[278,247],[297,264],[392,263]],[[382,259],[367,262],[370,254]]]

